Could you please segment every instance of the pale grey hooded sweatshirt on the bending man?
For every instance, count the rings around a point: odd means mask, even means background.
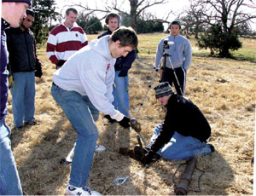
[[[112,105],[116,59],[110,54],[109,37],[92,40],[79,49],[54,73],[53,81],[61,89],[87,95],[96,109],[114,116],[117,113]]]

